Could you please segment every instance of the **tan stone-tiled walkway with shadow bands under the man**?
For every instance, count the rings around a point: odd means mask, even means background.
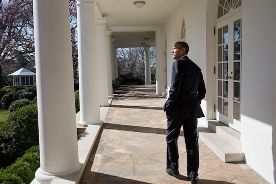
[[[166,172],[166,98],[155,86],[122,86],[116,91],[80,184],[190,183],[183,132],[180,176]],[[266,184],[245,163],[224,163],[200,139],[199,184]]]

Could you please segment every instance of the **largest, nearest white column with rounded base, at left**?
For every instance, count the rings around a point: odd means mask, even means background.
[[[68,6],[68,0],[33,1],[40,183],[80,168]]]

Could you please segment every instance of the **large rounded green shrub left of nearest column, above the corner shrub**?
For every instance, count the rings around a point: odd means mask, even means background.
[[[0,127],[0,161],[14,161],[33,145],[38,145],[37,105],[12,112]]]

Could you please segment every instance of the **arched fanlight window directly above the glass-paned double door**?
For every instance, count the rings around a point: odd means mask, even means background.
[[[219,0],[218,16],[220,18],[242,5],[242,0]]]

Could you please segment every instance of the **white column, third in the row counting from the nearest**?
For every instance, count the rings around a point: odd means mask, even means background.
[[[99,76],[100,106],[108,106],[108,84],[105,47],[106,18],[96,19],[97,60]]]

